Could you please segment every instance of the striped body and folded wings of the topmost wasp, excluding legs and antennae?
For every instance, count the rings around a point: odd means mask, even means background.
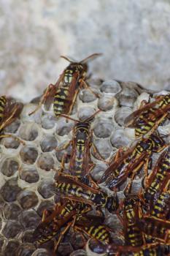
[[[85,64],[71,63],[63,71],[53,101],[55,116],[71,113],[80,86],[79,81],[85,79],[86,68]]]

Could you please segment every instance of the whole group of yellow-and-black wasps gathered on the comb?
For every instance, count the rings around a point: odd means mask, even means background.
[[[32,239],[38,247],[53,239],[53,255],[57,255],[58,246],[72,229],[73,233],[82,235],[84,246],[89,238],[93,239],[96,246],[93,245],[93,250],[98,254],[170,255],[170,146],[165,140],[166,135],[158,133],[158,127],[169,118],[170,94],[155,97],[152,102],[142,101],[140,108],[125,119],[125,125],[135,129],[136,143],[128,148],[119,148],[107,162],[107,169],[100,180],[94,181],[90,175],[94,168],[91,149],[97,159],[106,163],[93,144],[93,131],[90,129],[90,121],[101,110],[84,121],[69,115],[81,88],[96,94],[86,80],[87,61],[96,56],[97,53],[80,62],[63,57],[70,62],[69,66],[55,85],[47,87],[38,107],[29,113],[33,115],[45,102],[53,101],[57,118],[63,116],[75,122],[72,140],[63,148],[55,149],[61,151],[72,146],[70,155],[63,155],[53,184],[53,193],[60,195],[61,200],[53,211],[43,212],[42,222],[36,227]],[[22,108],[23,105],[12,99],[0,98],[1,131],[20,115]],[[1,138],[8,136],[12,137],[2,134]],[[15,139],[23,143],[20,138]],[[153,153],[160,156],[152,166]],[[66,167],[68,159],[69,167]],[[141,170],[144,172],[142,189],[133,194],[131,187]],[[124,198],[120,200],[117,189],[125,183]],[[120,233],[122,244],[113,241],[112,229],[104,225],[104,211],[117,215],[123,227],[123,233]]]

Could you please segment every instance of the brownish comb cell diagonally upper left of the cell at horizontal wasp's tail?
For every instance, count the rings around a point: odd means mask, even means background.
[[[39,181],[39,173],[34,166],[26,166],[20,170],[20,178],[28,183]]]

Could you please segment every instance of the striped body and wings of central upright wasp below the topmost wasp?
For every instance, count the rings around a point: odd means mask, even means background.
[[[90,124],[79,122],[74,127],[74,139],[72,141],[72,153],[69,165],[69,172],[72,176],[81,180],[88,179],[87,175],[90,170]],[[88,184],[88,181],[85,182]]]

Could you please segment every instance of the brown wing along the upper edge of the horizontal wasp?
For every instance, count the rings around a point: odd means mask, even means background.
[[[61,181],[61,182],[65,182],[66,184],[75,184],[77,187],[82,187],[85,190],[90,190],[91,192],[98,194],[99,192],[101,192],[99,189],[94,189],[93,187],[89,187],[85,184],[83,184],[81,181],[78,181],[75,178],[72,178],[71,176],[67,176],[67,175],[59,175],[56,178],[57,181]]]

